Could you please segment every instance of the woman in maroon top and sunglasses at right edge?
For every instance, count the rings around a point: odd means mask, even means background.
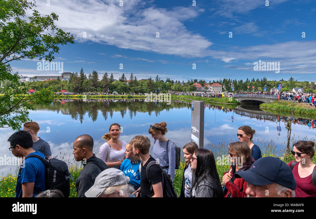
[[[295,161],[289,162],[288,165],[296,181],[295,197],[316,197],[312,179],[313,175],[316,178],[316,165],[311,160],[315,154],[314,146],[312,141],[298,141],[293,144],[291,152]]]

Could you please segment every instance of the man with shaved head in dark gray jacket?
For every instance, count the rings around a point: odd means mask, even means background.
[[[76,180],[76,190],[78,197],[84,195],[88,189],[94,185],[95,178],[103,170],[107,169],[104,161],[93,154],[93,138],[89,135],[81,135],[76,138],[73,145],[76,161],[82,161],[83,168]]]

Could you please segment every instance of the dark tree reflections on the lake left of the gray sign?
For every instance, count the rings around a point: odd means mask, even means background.
[[[188,108],[191,109],[191,103],[175,100],[172,104],[167,105],[166,102],[148,102],[140,99],[87,99],[87,100],[69,100],[62,99],[56,100],[47,107],[36,106],[37,109],[48,109],[57,113],[70,115],[72,119],[79,119],[80,123],[83,121],[83,116],[87,113],[92,121],[98,117],[98,112],[102,113],[104,119],[108,116],[113,116],[114,112],[120,112],[122,118],[128,112],[129,117],[132,119],[136,116],[137,112],[148,113],[151,115],[155,113],[156,117],[160,115],[163,110],[169,111],[173,108]]]

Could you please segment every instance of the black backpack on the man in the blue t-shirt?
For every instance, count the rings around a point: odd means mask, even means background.
[[[28,155],[25,159],[29,157],[37,157],[45,164],[45,189],[58,189],[64,194],[65,197],[69,197],[70,179],[73,180],[73,178],[69,173],[67,164],[64,161],[58,160],[56,158],[46,160],[43,157],[35,154]],[[37,193],[42,192],[35,186],[34,191]]]

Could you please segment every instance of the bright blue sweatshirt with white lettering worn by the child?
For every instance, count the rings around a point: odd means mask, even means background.
[[[130,159],[125,159],[120,167],[125,176],[130,177],[130,183],[135,186],[140,186],[140,174],[139,174],[139,164],[140,160],[131,161]]]

